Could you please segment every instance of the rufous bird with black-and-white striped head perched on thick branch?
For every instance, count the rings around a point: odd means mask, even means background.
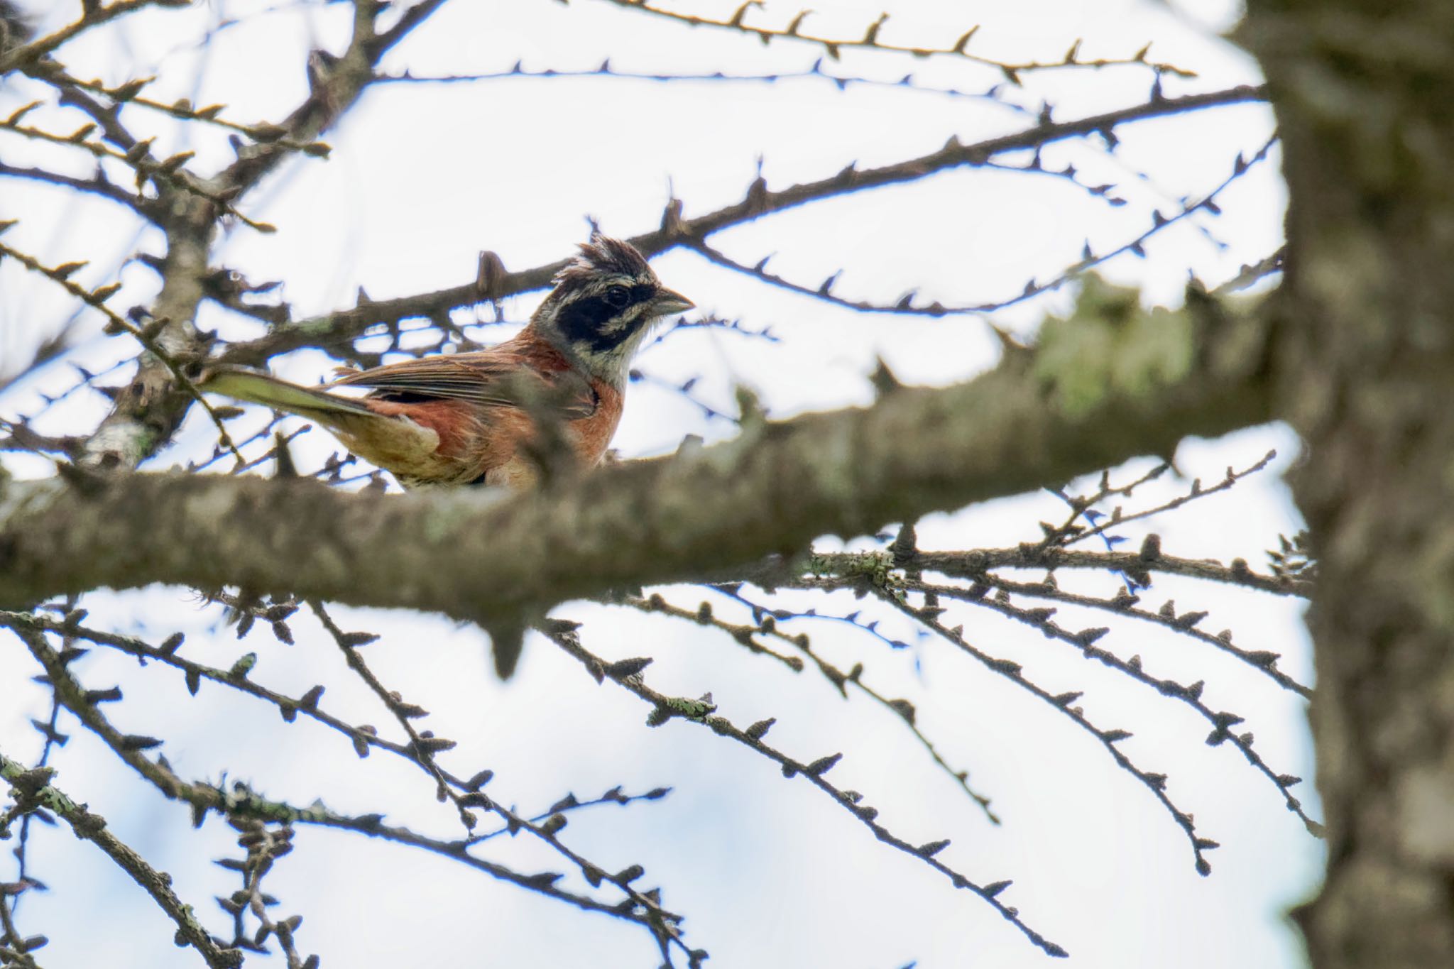
[[[320,386],[224,366],[198,386],[313,420],[406,490],[537,488],[545,439],[569,446],[580,468],[602,461],[631,357],[653,325],[695,305],[630,243],[593,232],[579,248],[526,327],[486,350],[340,369]]]

